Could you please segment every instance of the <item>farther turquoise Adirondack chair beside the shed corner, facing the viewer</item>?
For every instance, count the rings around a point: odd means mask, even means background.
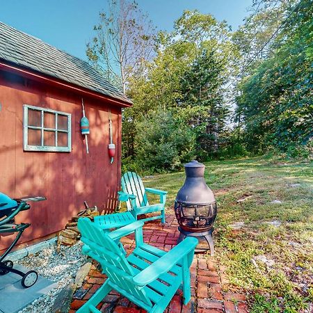
[[[126,201],[127,209],[131,212],[134,218],[137,220],[138,215],[160,212],[157,216],[142,219],[156,220],[161,218],[161,223],[165,223],[165,204],[167,191],[161,191],[154,188],[145,188],[141,177],[136,172],[126,172],[122,176],[122,192],[119,192],[119,200]],[[149,204],[147,199],[147,193],[154,193],[160,196],[160,202],[158,204]]]

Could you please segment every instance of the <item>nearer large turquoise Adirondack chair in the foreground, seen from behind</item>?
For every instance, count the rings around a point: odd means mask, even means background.
[[[169,252],[143,243],[143,222],[138,220],[113,232],[104,232],[88,218],[79,218],[83,253],[102,266],[108,276],[102,287],[77,313],[100,312],[97,305],[114,289],[147,312],[163,312],[182,286],[184,304],[191,298],[189,267],[198,240],[184,239]],[[136,248],[128,257],[118,243],[135,231]]]

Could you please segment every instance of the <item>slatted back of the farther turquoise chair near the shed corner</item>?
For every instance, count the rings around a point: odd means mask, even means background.
[[[122,191],[130,193],[131,195],[136,195],[137,207],[149,205],[147,195],[145,193],[145,186],[143,186],[143,181],[141,180],[141,177],[136,174],[136,172],[125,172],[122,176]],[[130,200],[127,201],[127,209],[134,209],[131,207]]]

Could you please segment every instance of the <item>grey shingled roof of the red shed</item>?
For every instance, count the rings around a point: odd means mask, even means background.
[[[122,92],[106,81],[86,61],[2,22],[0,61],[1,59],[131,104]]]

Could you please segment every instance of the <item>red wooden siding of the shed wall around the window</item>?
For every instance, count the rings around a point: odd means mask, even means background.
[[[83,201],[99,209],[115,204],[111,199],[116,198],[120,185],[121,108],[93,97],[84,97],[84,103],[90,121],[90,154],[86,154],[80,132],[79,93],[0,70],[0,191],[12,198],[30,194],[47,197],[17,215],[17,222],[32,224],[19,243],[61,230],[83,207]],[[24,152],[23,104],[71,113],[72,151]],[[113,164],[108,154],[109,109],[117,146]],[[0,236],[0,250],[12,240],[13,236]]]

